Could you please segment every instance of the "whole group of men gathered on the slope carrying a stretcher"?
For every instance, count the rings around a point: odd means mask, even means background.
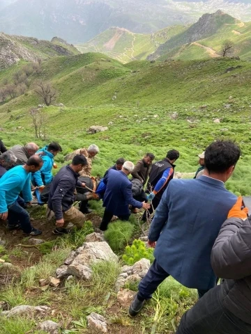
[[[31,203],[31,191],[43,191],[48,184],[47,217],[54,216],[54,233],[68,233],[69,222],[82,228],[84,214],[91,210],[88,200],[82,200],[79,208],[73,205],[75,189],[86,189],[82,177],[93,180],[92,160],[98,146],[68,154],[70,164],[54,177],[54,157],[61,152],[58,143],[41,150],[35,143],[10,150],[3,145],[3,150],[0,218],[8,219],[8,229],[41,233],[31,225],[25,207]],[[100,230],[107,229],[112,216],[127,221],[140,208],[145,209],[142,220],[151,222],[148,242],[155,248],[155,260],[139,283],[128,310],[131,317],[142,310],[165,278],[173,276],[185,287],[197,289],[199,295],[199,301],[183,315],[176,334],[251,333],[251,218],[242,198],[225,188],[240,154],[231,141],[211,143],[198,154],[200,167],[191,180],[172,180],[177,150],[169,150],[156,162],[153,153],[146,153],[135,166],[119,158],[100,184],[93,186],[93,198],[102,199],[105,207]],[[219,278],[224,279],[220,285]]]

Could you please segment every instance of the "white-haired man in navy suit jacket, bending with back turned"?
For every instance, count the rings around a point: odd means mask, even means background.
[[[139,202],[132,198],[132,183],[128,180],[128,175],[132,172],[134,164],[126,161],[122,170],[110,169],[104,178],[106,184],[103,207],[105,213],[102,218],[100,230],[105,231],[107,225],[112,220],[112,216],[118,216],[121,221],[128,221],[130,217],[129,205],[138,209],[149,209],[146,202]]]

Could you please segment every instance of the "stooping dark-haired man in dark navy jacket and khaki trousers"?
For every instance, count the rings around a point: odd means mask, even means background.
[[[85,186],[78,180],[79,171],[86,166],[86,157],[77,154],[68,166],[63,166],[59,173],[52,180],[50,194],[48,199],[47,218],[50,219],[51,211],[54,212],[56,218],[56,229],[54,234],[67,234],[66,229],[68,223],[73,223],[77,228],[84,225],[84,214],[73,207],[75,200],[76,186]]]

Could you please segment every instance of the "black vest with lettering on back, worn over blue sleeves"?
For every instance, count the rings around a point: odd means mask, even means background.
[[[160,178],[162,177],[163,173],[165,172],[165,170],[167,168],[173,168],[174,169],[175,165],[170,164],[169,161],[167,160],[167,158],[160,160],[160,161],[156,161],[155,164],[153,164],[152,168],[151,168],[151,172],[149,175],[149,181],[147,182],[147,190],[149,192],[153,191],[155,185],[158,183],[158,181],[160,180]],[[172,173],[172,175],[169,177],[168,182],[165,184],[165,186],[162,187],[162,189],[156,194],[156,198],[162,198],[162,195],[165,191],[165,189],[167,189],[167,186],[169,184],[169,182],[173,179],[174,177],[174,173]]]

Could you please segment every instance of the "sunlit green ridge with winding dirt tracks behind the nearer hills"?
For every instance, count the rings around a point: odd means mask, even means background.
[[[221,56],[222,41],[234,43],[232,56],[251,58],[251,22],[243,23],[221,10],[204,14],[195,24],[172,26],[151,34],[112,27],[79,51],[101,52],[123,63],[137,60],[206,59]]]

